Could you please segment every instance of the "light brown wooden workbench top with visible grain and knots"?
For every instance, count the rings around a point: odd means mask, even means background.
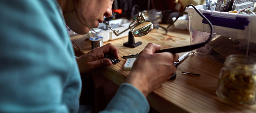
[[[171,28],[173,29],[173,28]],[[169,29],[170,30],[170,29]],[[83,38],[72,39],[83,53],[91,50],[91,42]],[[142,45],[135,48],[124,47],[128,36],[105,42],[112,43],[119,49],[119,57],[139,53],[148,43],[161,45],[161,49],[185,46],[190,44],[188,31],[171,30],[165,34],[164,30],[153,29],[149,34],[135,37],[135,42],[141,41]],[[183,55],[180,53],[179,55]],[[130,70],[124,70],[124,59],[117,65],[96,69],[93,74],[103,75],[117,85],[124,82]],[[216,96],[220,69],[223,63],[215,59],[190,54],[177,67],[177,77],[166,81],[150,93],[147,97],[150,106],[161,113],[170,112],[256,112],[256,105],[242,106],[223,100]],[[157,71],[157,70],[156,70]],[[182,75],[182,71],[197,73],[201,76]]]

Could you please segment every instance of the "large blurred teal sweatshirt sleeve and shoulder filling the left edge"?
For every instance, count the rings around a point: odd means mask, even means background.
[[[81,78],[55,0],[0,0],[0,113],[77,112]]]

